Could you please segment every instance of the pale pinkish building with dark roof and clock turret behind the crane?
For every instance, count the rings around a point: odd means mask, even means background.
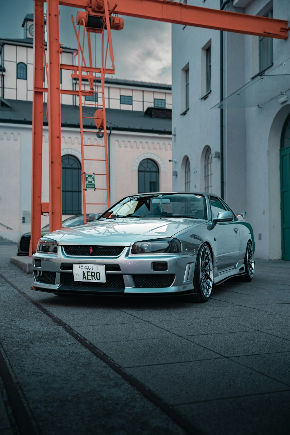
[[[13,241],[30,231],[31,221],[33,14],[25,17],[23,29],[23,39],[0,39],[0,236]],[[62,46],[61,63],[73,64],[76,52]],[[78,88],[77,80],[70,74],[71,71],[62,71],[63,89]],[[45,74],[43,84],[47,86]],[[100,81],[96,80],[95,85],[98,87]],[[85,97],[83,104],[96,101],[97,95]],[[172,190],[171,85],[108,78],[105,97],[111,204],[127,194]],[[42,202],[49,201],[46,101],[45,94]],[[82,212],[80,114],[76,97],[62,95],[61,103],[66,218]],[[95,108],[87,105],[85,110],[93,116]],[[95,129],[90,121],[86,119],[84,127]],[[87,133],[85,143],[103,144],[103,140]],[[103,148],[85,147],[85,158],[103,158]],[[100,172],[93,164],[86,161],[86,172]],[[104,177],[98,178],[97,183],[103,187]],[[97,192],[89,191],[88,195],[88,202],[103,202],[96,199]],[[94,207],[87,207],[87,212],[100,212],[105,206],[98,210]],[[43,216],[42,224],[47,223],[48,218]]]

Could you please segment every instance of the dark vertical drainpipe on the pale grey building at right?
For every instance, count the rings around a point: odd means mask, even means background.
[[[224,10],[231,0],[220,0],[220,10]],[[223,101],[223,31],[220,30],[220,101]],[[224,197],[224,174],[223,174],[223,108],[220,108],[220,196]]]

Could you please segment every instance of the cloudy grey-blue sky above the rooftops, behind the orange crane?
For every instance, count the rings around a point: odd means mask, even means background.
[[[32,12],[32,0],[0,0],[0,37],[22,38],[23,18]],[[71,23],[71,15],[75,18],[76,13],[76,8],[60,7],[60,42],[67,47],[77,47]],[[114,77],[171,84],[171,24],[123,18],[123,30],[112,32]],[[88,59],[86,61],[88,63]]]

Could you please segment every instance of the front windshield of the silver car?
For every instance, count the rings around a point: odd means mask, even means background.
[[[124,198],[100,218],[206,219],[205,201],[200,194],[136,195]]]

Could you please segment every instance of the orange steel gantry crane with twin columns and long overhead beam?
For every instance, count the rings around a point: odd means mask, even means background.
[[[43,88],[44,57],[44,11],[47,3],[48,32],[48,87]],[[105,3],[106,2],[106,3]],[[62,187],[61,187],[61,118],[60,94],[80,96],[79,90],[60,89],[60,69],[72,70],[73,77],[85,71],[88,75],[100,73],[114,74],[113,50],[109,48],[112,68],[81,67],[60,64],[59,5],[85,10],[79,13],[78,24],[89,25],[88,18],[102,19],[103,28],[108,35],[116,15],[158,20],[187,26],[205,27],[228,32],[247,33],[287,39],[288,21],[277,20],[219,9],[191,6],[167,0],[34,0],[34,70],[33,70],[33,121],[32,121],[32,203],[31,203],[31,256],[37,248],[41,231],[41,213],[49,210],[50,231],[62,226]],[[106,17],[107,15],[107,17]],[[86,22],[87,19],[87,22]],[[90,22],[92,20],[89,19]],[[118,21],[118,20],[116,20]],[[117,30],[123,26],[115,26]],[[88,29],[87,29],[88,30]],[[110,38],[108,38],[109,40]],[[80,44],[79,44],[80,45]],[[81,78],[81,77],[79,77]],[[81,82],[81,80],[80,80]],[[49,205],[41,202],[42,177],[42,135],[43,135],[43,93],[48,93],[48,131],[49,131]],[[90,91],[84,91],[83,94]],[[104,131],[106,125],[104,124]],[[83,186],[84,189],[84,186]],[[109,200],[107,200],[109,202]]]

